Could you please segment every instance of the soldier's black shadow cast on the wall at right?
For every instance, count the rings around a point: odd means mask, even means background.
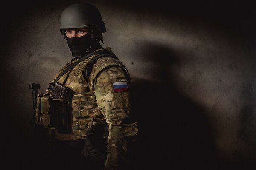
[[[138,169],[215,169],[215,146],[204,109],[177,91],[170,72],[170,67],[179,65],[177,55],[154,44],[143,47],[148,50],[141,59],[156,67],[150,71],[155,81],[132,83],[132,112],[139,126]]]

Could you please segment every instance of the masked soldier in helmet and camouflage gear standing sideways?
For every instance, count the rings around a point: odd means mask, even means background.
[[[38,94],[36,117],[38,124],[54,129],[52,159],[64,166],[81,161],[87,169],[124,170],[137,135],[129,113],[129,73],[111,48],[100,45],[106,28],[95,6],[65,8],[60,31],[74,58],[56,74],[47,93]]]

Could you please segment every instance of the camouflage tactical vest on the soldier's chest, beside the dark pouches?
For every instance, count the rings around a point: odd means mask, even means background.
[[[83,77],[84,68],[91,58],[92,57],[84,59],[58,80],[59,83],[73,91],[70,102],[72,133],[62,134],[55,131],[55,139],[85,139],[86,133],[89,130],[87,125],[89,123],[90,114],[98,109],[96,96],[93,91],[90,90],[89,85]],[[77,59],[62,67],[54,79],[70,64],[76,62],[76,60]]]

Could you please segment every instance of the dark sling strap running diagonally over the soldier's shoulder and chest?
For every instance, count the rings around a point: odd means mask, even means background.
[[[88,58],[88,57],[92,57],[95,56],[91,59],[91,61],[96,61],[97,59],[101,58],[101,57],[116,57],[115,54],[113,54],[111,51],[109,51],[108,49],[103,49],[103,50],[99,50],[99,51],[93,51],[92,53],[84,56],[83,58],[77,60],[76,62],[74,62],[73,64],[71,64],[70,66],[68,66],[61,74],[58,75],[58,77],[56,79],[54,79],[54,81],[52,83],[58,82],[58,80],[61,78],[61,76],[63,76],[64,74],[66,74],[68,71],[70,71],[72,68],[74,68],[76,65],[78,65],[80,62],[82,62],[84,59]]]

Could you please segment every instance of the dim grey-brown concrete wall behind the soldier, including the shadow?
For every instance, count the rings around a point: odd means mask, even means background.
[[[2,113],[12,159],[30,158],[29,83],[41,83],[43,92],[73,58],[59,19],[74,2],[4,7]],[[111,47],[131,74],[141,169],[167,162],[255,166],[256,15],[250,4],[87,2],[105,21],[103,47]]]

